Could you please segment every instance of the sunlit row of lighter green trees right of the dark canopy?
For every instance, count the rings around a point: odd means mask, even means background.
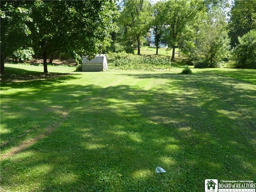
[[[230,58],[236,67],[256,68],[256,0],[124,0],[118,18],[119,42],[140,54],[140,39],[153,29],[155,45],[182,49],[197,67],[218,67]],[[247,37],[244,37],[246,34]],[[250,38],[250,41],[244,40]],[[247,42],[247,43],[246,43]],[[241,58],[243,57],[243,58]]]

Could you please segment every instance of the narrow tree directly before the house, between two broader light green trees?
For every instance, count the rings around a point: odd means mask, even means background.
[[[152,28],[155,35],[155,45],[156,45],[156,55],[158,54],[159,44],[163,38],[165,24],[163,22],[164,15],[162,10],[164,10],[164,2],[156,2],[154,4],[154,14],[152,20]]]

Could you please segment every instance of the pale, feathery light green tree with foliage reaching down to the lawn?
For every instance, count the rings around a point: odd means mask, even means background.
[[[226,0],[206,0],[206,17],[200,25],[196,49],[192,56],[195,67],[218,67],[220,61],[229,56]],[[202,17],[204,18],[204,17]]]

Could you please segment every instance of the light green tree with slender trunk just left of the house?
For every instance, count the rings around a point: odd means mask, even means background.
[[[124,8],[120,14],[120,22],[126,28],[125,32],[137,41],[140,55],[140,38],[146,35],[152,19],[152,6],[147,0],[124,0]]]

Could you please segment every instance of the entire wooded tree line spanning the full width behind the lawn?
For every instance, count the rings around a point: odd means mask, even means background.
[[[51,55],[80,59],[114,51],[133,52],[154,30],[182,49],[198,67],[233,58],[236,67],[256,68],[256,0],[1,1],[1,73],[6,57]],[[157,52],[156,52],[157,54]]]

